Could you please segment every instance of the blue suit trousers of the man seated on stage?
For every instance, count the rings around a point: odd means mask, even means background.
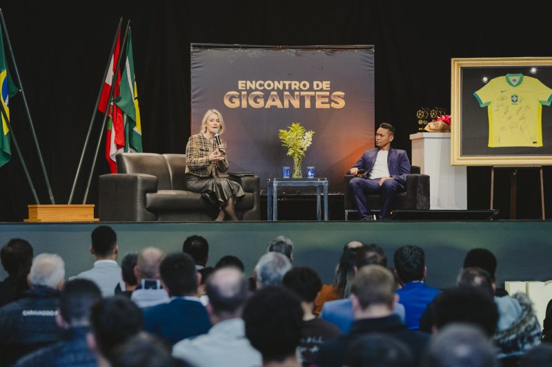
[[[379,178],[370,180],[362,177],[355,177],[349,181],[349,187],[353,191],[353,200],[358,208],[360,218],[371,216],[366,205],[366,194],[380,193],[382,196],[382,209],[380,209],[379,219],[387,219],[393,205],[393,200],[395,200],[395,194],[404,191],[404,187],[393,179],[385,180],[382,186],[378,185],[377,182],[379,181]]]

